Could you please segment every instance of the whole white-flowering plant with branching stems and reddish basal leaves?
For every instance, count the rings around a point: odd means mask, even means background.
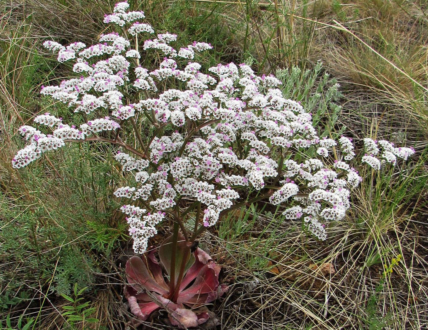
[[[283,97],[279,79],[260,77],[246,64],[218,64],[201,72],[194,59],[211,49],[210,44],[177,48],[175,34],[155,35],[149,24],[139,22],[144,13],[127,12],[128,7],[117,3],[113,13],[105,15],[104,22],[120,33],[102,34],[96,45],[43,44],[58,54],[59,62],[73,60],[76,77],[59,86],[42,86],[42,94],[64,102],[85,122],[75,127],[50,113],[37,116],[34,122],[45,125],[49,133],[28,125],[19,128],[29,143],[12,164],[26,166],[68,142],[96,140],[119,146],[116,161],[137,182],[114,192],[131,200],[121,210],[127,215],[135,253],[146,252],[158,223],[174,222],[174,234],[165,243],[171,251],[160,253],[168,279],[160,274],[153,254],[131,259],[126,273],[132,289],[125,295],[140,321],[157,308],[170,308],[172,323],[189,327],[207,316],[199,317],[185,306],[210,302],[225,289],[214,280],[218,271],[210,273],[212,294],[204,292],[203,301],[200,291],[189,294],[182,284],[204,282],[207,272],[188,270],[214,265],[205,255],[202,264],[192,264],[202,252],[190,253],[190,246],[205,228],[232,208],[268,200],[281,205],[285,219],[301,219],[305,230],[325,240],[325,223],[345,217],[351,190],[361,178],[352,166],[352,140],[318,138],[311,113]],[[140,59],[151,54],[160,58],[155,70],[140,65]],[[142,122],[152,125],[153,133],[140,131]],[[137,146],[122,140],[124,126],[134,129]],[[414,153],[385,140],[364,139],[364,147],[362,162],[374,169]],[[193,232],[184,226],[190,216]],[[157,284],[147,286],[149,277]],[[150,308],[139,303],[143,296]]]

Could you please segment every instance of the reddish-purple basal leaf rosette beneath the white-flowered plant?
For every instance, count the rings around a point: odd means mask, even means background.
[[[179,234],[177,256],[189,256],[184,276],[175,283],[176,292],[171,294],[169,277],[171,238],[159,249],[160,263],[155,257],[155,249],[134,256],[126,263],[125,273],[129,285],[125,287],[125,298],[131,312],[139,321],[145,321],[157,309],[166,309],[172,325],[196,327],[209,318],[205,309],[198,307],[211,303],[220,297],[227,286],[219,284],[220,266],[203,250],[196,248],[190,254],[190,246]],[[178,274],[178,273],[177,273]],[[169,274],[170,275],[170,274]]]

